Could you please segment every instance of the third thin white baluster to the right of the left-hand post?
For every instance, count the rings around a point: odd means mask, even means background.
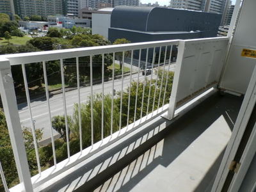
[[[68,117],[67,117],[67,104],[66,104],[66,93],[65,93],[65,78],[64,78],[64,66],[63,59],[60,60],[60,68],[61,68],[61,84],[62,84],[62,95],[63,95],[63,109],[65,116],[65,126],[66,126],[66,136],[67,136],[67,152],[68,152],[68,160],[70,159],[70,147],[69,147],[69,131],[68,131]]]

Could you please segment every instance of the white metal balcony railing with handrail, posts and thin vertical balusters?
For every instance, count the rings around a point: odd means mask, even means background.
[[[14,143],[13,146],[14,146],[15,152],[17,153],[15,155],[15,160],[18,162],[17,167],[18,167],[18,172],[19,172],[19,178],[20,178],[20,180],[23,181],[22,184],[24,184],[24,187],[26,189],[30,190],[32,188],[32,184],[33,184],[34,188],[37,187],[37,186],[40,186],[40,184],[46,182],[47,180],[52,179],[53,177],[56,177],[56,175],[59,175],[60,173],[65,172],[65,170],[68,170],[72,166],[74,166],[78,163],[81,163],[81,161],[83,161],[84,159],[92,156],[94,153],[98,152],[99,150],[106,147],[107,145],[110,145],[111,142],[117,141],[120,137],[125,136],[125,134],[128,134],[129,131],[132,131],[132,129],[133,130],[137,129],[139,126],[143,125],[145,122],[150,120],[150,118],[147,118],[147,116],[148,116],[148,109],[147,109],[147,115],[143,117],[142,116],[142,110],[141,110],[140,119],[136,120],[136,118],[135,118],[136,108],[135,108],[135,115],[134,115],[134,123],[133,124],[128,124],[128,120],[127,120],[127,128],[120,129],[119,132],[118,131],[117,132],[112,132],[111,131],[111,135],[106,137],[106,138],[104,138],[104,135],[102,134],[102,141],[98,141],[96,143],[93,143],[93,128],[92,128],[92,145],[90,147],[87,147],[85,149],[83,149],[83,147],[81,147],[81,152],[80,153],[77,153],[74,156],[70,156],[70,154],[68,154],[68,159],[65,159],[64,161],[61,161],[58,164],[56,163],[56,156],[55,156],[54,157],[54,166],[52,166],[51,168],[48,168],[47,170],[42,172],[42,174],[35,175],[34,177],[31,178],[32,180],[29,180],[26,177],[24,177],[24,175],[29,175],[29,167],[28,167],[28,161],[27,161],[27,157],[26,157],[26,150],[24,150],[24,144],[22,144],[22,142],[23,142],[22,133],[20,132],[20,130],[21,130],[20,120],[19,120],[19,114],[18,114],[16,102],[15,102],[14,87],[13,87],[13,83],[11,81],[12,80],[12,76],[11,76],[12,72],[11,72],[10,65],[20,65],[20,64],[22,65],[22,72],[23,72],[23,76],[24,76],[24,82],[25,82],[25,84],[28,84],[28,82],[26,81],[26,68],[25,68],[24,64],[42,62],[43,68],[44,68],[44,78],[46,80],[45,81],[45,84],[46,84],[45,94],[47,95],[49,122],[50,122],[50,127],[51,127],[51,130],[52,130],[51,109],[50,109],[50,103],[49,103],[49,92],[47,90],[48,85],[47,85],[47,72],[46,72],[46,67],[45,67],[45,61],[60,60],[60,64],[61,64],[61,83],[62,83],[62,87],[63,87],[63,98],[65,99],[66,97],[65,97],[65,78],[64,78],[64,72],[63,72],[63,60],[66,59],[66,58],[76,58],[77,77],[79,79],[79,57],[90,56],[90,74],[91,74],[90,75],[90,83],[91,83],[90,86],[91,86],[91,98],[93,98],[92,97],[93,96],[93,86],[92,86],[93,85],[92,84],[93,83],[93,78],[92,78],[92,56],[93,55],[102,54],[102,79],[104,79],[104,54],[106,54],[106,53],[113,53],[113,64],[115,64],[115,52],[122,52],[123,62],[124,62],[125,51],[131,51],[132,52],[132,54],[131,54],[132,55],[131,56],[131,61],[132,61],[133,51],[138,50],[138,51],[140,51],[140,54],[139,54],[139,68],[140,68],[141,49],[145,49],[145,50],[147,50],[146,60],[145,60],[146,68],[147,68],[148,63],[150,63],[148,61],[148,49],[154,49],[154,52],[152,54],[152,57],[153,57],[153,62],[152,63],[154,63],[154,60],[156,59],[155,58],[156,55],[154,54],[155,51],[156,51],[156,47],[160,47],[159,48],[159,54],[161,53],[162,47],[165,47],[165,54],[164,54],[164,64],[165,64],[166,63],[165,62],[166,61],[166,53],[168,51],[168,46],[170,46],[170,58],[169,58],[169,62],[168,62],[168,71],[169,71],[173,45],[179,45],[179,51],[178,51],[178,56],[177,56],[177,68],[175,68],[175,76],[174,76],[174,79],[173,79],[172,94],[171,94],[172,98],[174,98],[174,99],[171,99],[172,102],[170,102],[170,104],[166,104],[166,105],[164,105],[164,99],[163,99],[163,107],[161,107],[162,109],[160,111],[158,110],[159,109],[159,103],[160,103],[161,91],[162,91],[162,84],[163,84],[163,77],[162,77],[162,79],[160,81],[161,82],[160,96],[159,96],[159,99],[158,99],[158,104],[157,104],[157,110],[156,111],[154,111],[156,89],[154,90],[154,102],[153,102],[153,109],[152,109],[152,116],[151,116],[151,118],[154,118],[154,116],[159,115],[159,114],[161,114],[164,111],[169,109],[169,113],[172,115],[170,117],[170,119],[171,119],[171,118],[173,118],[174,111],[176,109],[176,98],[177,98],[177,90],[179,88],[180,76],[188,77],[188,74],[191,73],[190,70],[187,70],[187,72],[188,72],[187,74],[180,75],[180,72],[182,72],[182,66],[184,65],[184,55],[185,55],[184,52],[189,51],[189,50],[191,52],[194,52],[197,49],[202,50],[201,47],[207,47],[206,46],[207,44],[205,44],[205,46],[204,46],[204,43],[208,42],[211,45],[211,49],[209,49],[210,50],[209,52],[211,52],[210,53],[211,60],[209,60],[209,62],[210,62],[209,64],[212,65],[213,58],[214,58],[214,51],[219,46],[218,42],[220,42],[220,45],[222,45],[222,44],[225,44],[225,42],[223,42],[223,41],[227,41],[228,39],[229,39],[228,37],[215,37],[215,38],[199,38],[199,39],[191,39],[191,40],[163,40],[163,41],[141,42],[141,43],[133,43],[133,44],[106,45],[106,46],[99,46],[99,47],[83,47],[83,48],[76,48],[76,49],[62,49],[62,50],[56,50],[56,51],[26,52],[26,53],[20,53],[20,54],[1,55],[0,56],[0,63],[1,63],[1,65],[0,65],[0,77],[1,77],[0,78],[0,84],[5,85],[7,83],[8,87],[6,87],[6,86],[5,87],[4,86],[0,87],[0,92],[1,92],[1,95],[4,95],[4,97],[3,97],[3,102],[5,103],[4,109],[6,109],[6,111],[8,113],[8,116],[6,117],[6,120],[8,121],[8,129],[11,129],[11,131],[13,131],[13,130],[15,131],[16,129],[19,130],[18,135],[13,134],[14,136],[16,136],[16,138],[13,136],[13,137],[11,137],[11,140],[13,142],[19,141],[21,143],[18,147],[17,147],[16,143]],[[195,42],[195,44],[199,43],[200,46],[196,46],[196,45],[191,46],[191,45],[194,44],[194,42]],[[186,47],[185,46],[186,44],[189,44],[189,46]],[[199,63],[198,65],[196,64],[197,67],[200,67],[200,66],[204,65],[203,61],[201,61],[202,65],[200,65],[200,56],[201,55],[202,55],[202,51],[198,52],[198,54],[196,54],[197,59],[194,63],[197,63],[197,64]],[[158,65],[157,65],[157,77],[156,77],[156,79],[158,78],[158,69],[159,69],[160,61],[161,61],[161,59],[159,57],[158,58]],[[5,65],[7,66],[7,70],[6,70],[6,68],[4,68],[4,62],[5,62]],[[221,60],[221,63],[223,63],[222,60]],[[210,71],[211,71],[211,65],[208,65],[209,74],[210,74]],[[163,70],[164,70],[164,67],[163,67]],[[214,70],[212,70],[212,71],[214,72]],[[131,62],[131,72],[132,72],[132,62]],[[114,82],[115,82],[114,74],[115,74],[115,70],[113,70],[113,79],[112,79],[112,81],[113,81],[113,86],[112,86],[113,91],[112,91],[112,100],[111,100],[112,106],[113,106],[114,87],[115,87],[114,86]],[[147,80],[146,76],[147,76],[147,74],[145,75],[145,80],[143,82],[143,96],[142,96],[141,108],[143,108],[145,82]],[[163,72],[162,72],[162,76],[163,76]],[[122,68],[122,83],[123,83],[123,77],[124,77],[124,67]],[[137,91],[136,91],[137,93],[138,93],[138,83],[140,82],[139,77],[140,77],[140,70],[138,72]],[[152,78],[152,74],[151,74],[151,78]],[[167,79],[168,79],[168,76],[166,77],[166,84],[167,84]],[[132,81],[132,78],[130,77],[130,85],[131,85],[131,81]],[[187,78],[186,82],[187,81],[190,81],[190,80]],[[102,82],[104,82],[104,81],[102,80]],[[156,84],[155,86],[157,86],[157,80],[154,84]],[[151,81],[150,81],[150,85],[151,85]],[[166,86],[164,88],[163,98],[165,98]],[[78,95],[79,95],[78,97],[80,98],[79,87],[80,87],[80,85],[79,85],[79,80],[78,80],[77,89],[78,89]],[[121,90],[123,90],[123,86],[122,86]],[[130,94],[131,93],[129,92],[129,97],[131,96]],[[28,86],[26,86],[26,95],[27,95],[28,103],[30,103]],[[104,95],[104,83],[102,83],[102,95]],[[170,95],[166,95],[166,97],[170,97]],[[150,98],[150,91],[148,93],[148,99],[149,98]],[[120,100],[121,100],[121,104],[120,104],[120,111],[121,112],[120,112],[120,114],[122,114],[122,97],[121,97]],[[80,99],[79,99],[78,102],[80,103]],[[136,97],[136,102],[137,102],[137,97]],[[102,109],[104,109],[104,102],[102,102],[102,103],[103,103],[102,104]],[[149,100],[147,101],[147,103],[149,104]],[[67,110],[65,108],[67,106],[65,101],[63,102],[63,106],[64,106],[64,110]],[[12,110],[9,110],[9,108],[12,109]],[[91,107],[90,108],[91,108],[91,110],[93,109],[92,100],[91,100]],[[170,112],[170,109],[172,109],[171,112]],[[12,111],[12,117],[11,117],[11,113],[9,111]],[[111,111],[113,111],[113,109]],[[14,122],[15,124],[12,122],[13,114],[17,116],[17,119]],[[93,114],[93,112],[91,114]],[[169,117],[169,115],[168,115],[168,117]],[[31,123],[33,123],[32,120],[33,119],[31,117]],[[81,117],[79,117],[79,120],[81,120]],[[92,127],[93,127],[93,116],[92,116],[91,120],[92,120]],[[121,122],[121,118],[120,118],[119,122]],[[136,124],[136,122],[138,122],[138,124]],[[67,126],[68,126],[67,125],[67,111],[65,111],[65,124],[66,124],[66,129],[67,129]],[[113,123],[111,122],[111,125],[112,124]],[[33,129],[35,129],[35,126],[33,127]],[[81,128],[79,127],[79,129],[81,129]],[[101,129],[102,129],[102,132],[103,132],[103,126],[102,126]],[[79,130],[79,131],[81,132],[81,130]],[[52,138],[52,150],[53,150],[53,153],[55,154],[53,135],[51,136],[51,138]],[[67,138],[68,138],[68,136],[67,136]],[[81,134],[80,134],[80,138],[81,138]],[[34,138],[34,140],[36,140],[36,139]],[[80,142],[82,142],[82,141],[80,141]],[[80,145],[81,145],[81,143],[80,143]],[[36,145],[35,145],[35,147],[36,147]],[[68,145],[68,150],[69,150],[69,145]],[[20,161],[20,157],[23,158],[23,161]],[[39,160],[38,160],[38,164],[39,164],[38,168],[40,168],[40,161]]]

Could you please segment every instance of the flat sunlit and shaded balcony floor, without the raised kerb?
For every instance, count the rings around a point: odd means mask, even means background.
[[[205,100],[95,191],[211,191],[240,104],[232,96]]]

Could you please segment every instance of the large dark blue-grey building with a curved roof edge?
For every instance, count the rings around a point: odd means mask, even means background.
[[[108,39],[112,42],[117,38],[143,42],[213,37],[217,35],[221,20],[221,15],[214,13],[132,6],[114,8],[109,26],[103,17],[105,15],[98,15],[92,20],[95,24],[93,34],[105,35],[108,31]]]

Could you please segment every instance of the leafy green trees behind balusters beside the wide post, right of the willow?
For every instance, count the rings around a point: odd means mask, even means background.
[[[132,82],[130,106],[129,106],[129,120],[128,120],[129,124],[131,124],[134,121],[136,95],[137,95],[137,106],[136,106],[135,120],[140,119],[141,110],[142,110],[142,116],[145,116],[147,114],[147,109],[148,109],[148,113],[151,113],[152,111],[156,110],[158,106],[158,101],[159,101],[159,106],[163,106],[163,103],[168,104],[170,95],[172,93],[172,82],[173,82],[174,73],[167,72],[166,70],[159,70],[158,74],[159,76],[157,79],[157,84],[156,84],[156,79],[153,79],[151,84],[150,84],[150,81],[147,79],[146,81],[138,84],[138,93],[136,92],[137,82]],[[161,89],[162,78],[163,78],[163,84]],[[145,90],[144,90],[144,98],[143,98],[143,105],[142,105],[144,83],[145,83]],[[166,86],[166,83],[167,83],[167,86]],[[165,86],[166,86],[166,94],[165,94],[165,97],[163,97]],[[149,89],[150,89],[150,95],[149,95]],[[155,90],[156,90],[156,96],[155,96],[155,102],[153,103]],[[161,95],[160,95],[160,90],[161,90]],[[149,102],[148,102],[148,96],[149,96]],[[159,97],[161,97],[160,100],[159,100]],[[116,104],[118,105],[118,108],[120,108],[120,99],[121,98],[120,98],[120,92],[119,92],[118,97],[116,98]],[[129,102],[129,88],[127,88],[123,92],[123,96],[122,96],[122,127],[127,125],[128,102]]]

